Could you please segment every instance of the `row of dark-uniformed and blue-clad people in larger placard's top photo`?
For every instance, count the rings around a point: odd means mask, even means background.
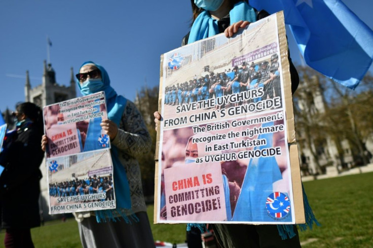
[[[204,76],[195,75],[189,81],[167,86],[164,103],[166,105],[182,105],[258,88],[263,89],[263,95],[252,99],[254,102],[274,97],[281,98],[278,70],[277,53],[271,56],[270,61],[266,59],[250,64],[244,61],[241,67],[234,66],[228,70],[210,70],[204,73]],[[235,106],[237,105],[239,103],[235,103]],[[215,108],[220,107],[220,105],[216,105]]]

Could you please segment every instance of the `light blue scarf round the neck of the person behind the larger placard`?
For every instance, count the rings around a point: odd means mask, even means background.
[[[254,8],[246,2],[239,2],[235,4],[233,9],[229,12],[231,25],[238,21],[256,21],[256,14]],[[198,15],[193,22],[191,32],[189,34],[188,44],[196,42],[197,40],[211,37],[219,33],[217,27],[217,20],[213,19],[208,11],[203,11]]]

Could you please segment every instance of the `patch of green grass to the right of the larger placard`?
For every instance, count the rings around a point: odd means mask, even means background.
[[[373,173],[304,183],[321,227],[300,232],[304,247],[373,247]]]

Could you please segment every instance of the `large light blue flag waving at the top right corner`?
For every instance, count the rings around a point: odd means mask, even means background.
[[[250,0],[257,10],[283,10],[306,63],[355,89],[373,61],[373,31],[340,0]]]

